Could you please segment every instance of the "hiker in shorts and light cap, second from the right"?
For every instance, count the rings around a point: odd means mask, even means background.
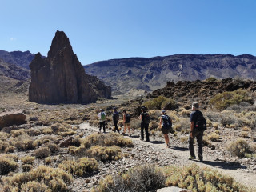
[[[166,145],[169,148],[170,147],[170,142],[169,142],[169,136],[168,134],[170,133],[170,129],[172,126],[172,121],[170,117],[166,114],[166,110],[161,111],[161,117],[160,117],[160,122],[159,122],[159,128],[162,129],[162,134],[165,138]]]

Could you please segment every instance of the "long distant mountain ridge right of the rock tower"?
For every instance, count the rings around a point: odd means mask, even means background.
[[[167,81],[215,78],[256,79],[256,57],[250,54],[176,54],[154,58],[122,58],[84,66],[117,93],[132,88],[156,90]]]

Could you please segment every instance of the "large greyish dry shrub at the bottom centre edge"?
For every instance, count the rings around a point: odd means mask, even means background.
[[[156,191],[165,186],[165,176],[155,166],[138,166],[127,174],[107,176],[101,180],[92,192],[118,192],[118,191]]]

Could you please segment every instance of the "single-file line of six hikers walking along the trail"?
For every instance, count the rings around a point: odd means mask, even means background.
[[[202,112],[199,110],[198,102],[193,102],[191,106],[192,112],[190,113],[190,134],[189,134],[189,150],[190,150],[190,160],[196,159],[194,154],[194,138],[197,138],[198,142],[198,159],[202,162],[202,136],[203,131],[206,130],[206,119],[203,117]],[[131,137],[130,132],[130,114],[126,110],[122,111],[122,125],[123,131],[122,135],[126,134],[126,129],[129,131],[129,136]],[[103,128],[103,133],[106,133],[105,122],[106,122],[106,113],[104,110],[100,110],[98,113],[99,118],[99,133]],[[118,129],[119,113],[116,107],[113,109],[112,114],[114,122],[114,132],[120,133]],[[150,142],[149,134],[149,124],[150,124],[150,115],[147,112],[146,106],[142,106],[142,113],[138,117],[141,120],[141,140],[144,141],[144,131],[146,134],[146,142]],[[170,138],[168,134],[172,130],[172,120],[166,114],[166,110],[161,111],[161,116],[159,117],[159,128],[162,130],[162,134],[165,138],[166,146],[170,148]]]

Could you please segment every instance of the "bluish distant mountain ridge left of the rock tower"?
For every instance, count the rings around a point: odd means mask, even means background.
[[[5,62],[29,69],[30,62],[34,59],[34,54],[31,54],[28,50],[25,52],[0,50],[0,58]]]

